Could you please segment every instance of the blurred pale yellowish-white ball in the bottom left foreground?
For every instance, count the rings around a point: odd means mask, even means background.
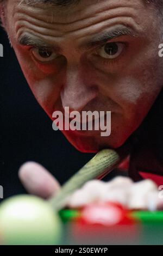
[[[14,196],[2,202],[0,227],[5,245],[56,245],[61,239],[57,212],[35,196]]]

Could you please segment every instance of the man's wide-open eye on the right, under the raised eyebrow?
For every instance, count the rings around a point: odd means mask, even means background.
[[[96,55],[104,59],[115,59],[121,55],[124,47],[123,42],[108,42],[96,50]]]

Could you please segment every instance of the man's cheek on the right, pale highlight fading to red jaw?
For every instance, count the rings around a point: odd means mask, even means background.
[[[115,83],[115,100],[121,106],[123,127],[132,132],[140,126],[161,90],[161,83],[143,72],[139,78],[126,77]]]

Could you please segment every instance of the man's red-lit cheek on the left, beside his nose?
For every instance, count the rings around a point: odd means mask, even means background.
[[[29,54],[15,50],[18,62],[36,100],[46,112],[52,112],[55,102],[60,97],[61,77],[56,67],[35,63]],[[42,71],[43,70],[43,71]]]

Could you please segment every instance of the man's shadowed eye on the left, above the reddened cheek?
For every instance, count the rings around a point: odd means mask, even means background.
[[[56,54],[53,50],[48,50],[46,48],[33,47],[31,51],[35,59],[39,62],[51,62],[58,57],[58,54]]]

